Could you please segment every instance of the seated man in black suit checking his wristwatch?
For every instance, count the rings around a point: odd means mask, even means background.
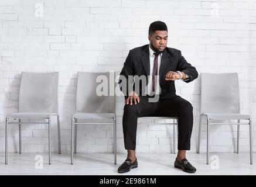
[[[145,116],[178,117],[178,155],[174,165],[185,172],[196,172],[186,160],[186,150],[190,150],[193,107],[176,95],[175,81],[191,82],[198,73],[179,50],[166,47],[168,29],[165,23],[151,23],[148,39],[149,45],[129,51],[120,73],[119,84],[125,95],[122,126],[128,155],[118,172],[138,167],[135,155],[137,119]]]

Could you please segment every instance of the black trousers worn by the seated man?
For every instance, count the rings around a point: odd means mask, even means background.
[[[148,96],[140,96],[135,105],[125,105],[122,117],[124,145],[126,150],[136,148],[136,130],[138,117],[167,116],[178,117],[178,150],[190,150],[190,137],[193,128],[193,107],[190,102],[176,96],[148,102]]]

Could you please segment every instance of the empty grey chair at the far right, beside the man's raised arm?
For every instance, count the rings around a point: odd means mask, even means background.
[[[197,153],[200,153],[202,117],[207,119],[207,158],[209,164],[209,126],[210,124],[237,125],[237,153],[239,153],[240,124],[250,127],[250,164],[252,164],[252,123],[250,115],[240,113],[240,96],[237,73],[201,74],[201,112]],[[210,123],[210,120],[237,120],[237,123]],[[240,123],[248,120],[248,123]]]

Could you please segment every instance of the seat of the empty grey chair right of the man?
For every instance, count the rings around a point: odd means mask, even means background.
[[[250,119],[250,115],[241,113],[203,113],[209,119],[231,120],[231,119]]]

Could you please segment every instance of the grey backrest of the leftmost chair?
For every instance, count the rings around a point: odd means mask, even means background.
[[[19,112],[58,113],[59,72],[22,72]]]

